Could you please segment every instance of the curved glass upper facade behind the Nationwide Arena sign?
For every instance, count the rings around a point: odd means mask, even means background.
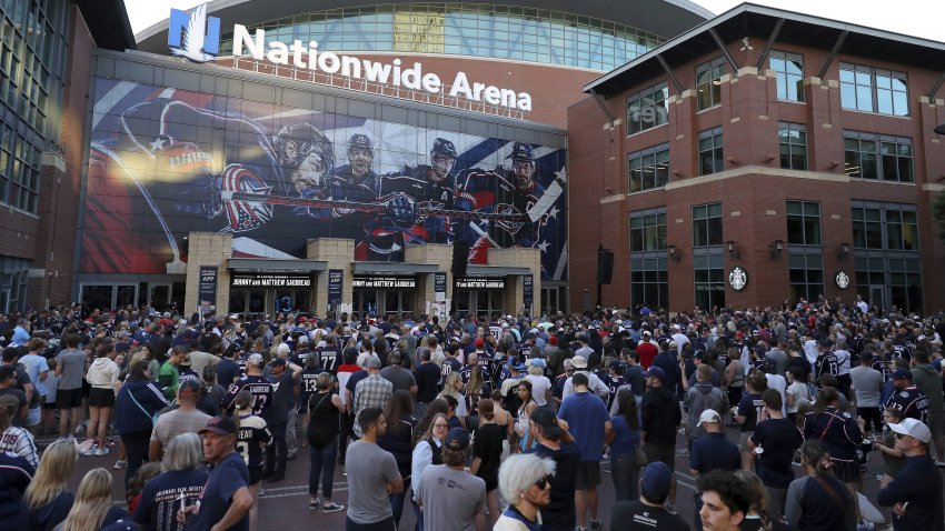
[[[613,70],[665,39],[625,24],[488,3],[378,4],[316,11],[248,27],[322,51],[446,53]],[[220,51],[232,53],[232,32]]]

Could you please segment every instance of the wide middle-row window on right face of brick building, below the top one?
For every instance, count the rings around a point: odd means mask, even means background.
[[[855,179],[915,182],[909,138],[844,131],[844,164]]]

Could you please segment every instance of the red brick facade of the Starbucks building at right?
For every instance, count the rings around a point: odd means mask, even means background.
[[[570,282],[571,310],[584,309],[581,293],[596,290],[597,247],[615,251],[613,281],[603,290],[604,305],[628,307],[629,214],[651,208],[666,209],[667,246],[676,246],[680,259],[669,259],[669,309],[692,311],[695,303],[693,264],[693,207],[720,202],[723,240],[733,240],[740,257],[724,251],[726,274],[732,267],[745,268],[747,287],[735,291],[726,283],[729,307],[765,307],[779,304],[789,293],[787,266],[786,201],[815,201],[820,206],[824,288],[827,297],[853,300],[856,293],[855,254],[850,201],[884,201],[915,204],[919,220],[919,248],[925,311],[945,307],[945,279],[938,273],[945,264],[945,247],[936,238],[929,202],[945,189],[945,147],[933,129],[945,122],[945,93],[928,102],[928,94],[941,72],[902,64],[873,61],[869,58],[839,54],[823,80],[815,78],[827,60],[827,51],[796,46],[774,44],[775,50],[803,54],[805,66],[805,102],[777,99],[776,80],[758,72],[764,41],[753,39],[752,49],[739,40],[728,51],[742,68],[722,82],[722,104],[697,112],[696,67],[722,56],[707,47],[705,54],[673,68],[685,89],[679,94],[666,74],[625,87],[604,103],[618,118],[607,127],[607,118],[594,98],[586,98],[568,110],[568,148],[570,179]],[[838,84],[842,61],[875,68],[904,71],[908,76],[909,116],[888,117],[843,110]],[[765,68],[769,63],[765,62]],[[629,77],[629,76],[628,76]],[[639,76],[633,79],[639,79]],[[667,82],[670,93],[668,122],[634,136],[627,136],[627,97],[659,82]],[[806,126],[807,171],[782,170],[779,164],[778,123]],[[725,168],[722,172],[699,177],[698,133],[722,127]],[[849,179],[844,170],[844,130],[865,131],[912,139],[914,183],[874,182]],[[669,143],[670,177],[665,188],[628,193],[628,153]],[[774,257],[775,240],[785,250]],[[849,254],[840,250],[850,244]],[[834,275],[843,270],[852,283],[840,290]],[[591,298],[591,301],[594,299]]]

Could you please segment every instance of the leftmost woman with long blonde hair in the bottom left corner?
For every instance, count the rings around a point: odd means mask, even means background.
[[[68,482],[78,459],[79,451],[70,440],[60,439],[46,447],[36,475],[23,494],[29,508],[29,529],[50,531],[66,520],[69,508],[76,501],[76,495],[68,490]]]

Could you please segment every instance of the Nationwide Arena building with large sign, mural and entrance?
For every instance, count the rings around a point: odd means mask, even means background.
[[[568,106],[712,16],[685,0],[312,6],[169,10],[77,56],[76,238],[54,251],[71,267],[27,264],[36,288],[0,310],[61,285],[90,309],[567,310]]]

